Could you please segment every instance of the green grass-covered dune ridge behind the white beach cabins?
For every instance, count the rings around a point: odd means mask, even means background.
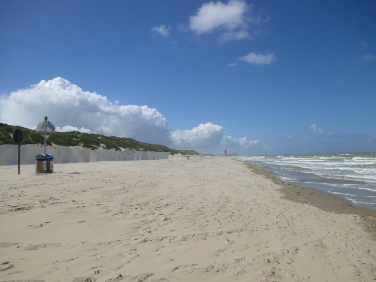
[[[21,129],[23,133],[21,145],[44,144],[43,134],[35,133],[35,130],[0,123],[0,145],[15,144],[13,141],[13,132],[16,128]],[[120,150],[120,148],[124,148],[139,151],[170,152],[172,154],[180,153],[182,155],[186,155],[188,152],[191,152],[191,150],[180,151],[170,149],[163,145],[143,143],[132,138],[104,136],[100,134],[81,133],[77,131],[50,133],[47,138],[47,145],[52,146],[53,144],[58,146],[82,146],[91,149],[103,147],[104,149]]]

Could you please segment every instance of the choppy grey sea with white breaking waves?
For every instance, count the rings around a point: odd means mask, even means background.
[[[280,179],[311,186],[353,206],[376,209],[376,152],[240,156]]]

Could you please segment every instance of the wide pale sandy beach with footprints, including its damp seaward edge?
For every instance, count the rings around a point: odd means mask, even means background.
[[[0,167],[0,180],[1,281],[376,280],[372,213],[292,201],[235,159]]]

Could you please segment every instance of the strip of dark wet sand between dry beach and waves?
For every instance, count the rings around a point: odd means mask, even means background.
[[[237,160],[240,161],[240,160]],[[267,166],[253,164],[247,161],[241,161],[247,165],[256,174],[265,176],[272,180],[277,185],[281,186],[281,191],[284,196],[282,198],[291,200],[297,203],[310,204],[323,211],[335,212],[338,214],[356,214],[362,217],[362,224],[367,232],[373,233],[376,238],[376,210],[367,209],[359,206],[353,206],[345,200],[315,189],[311,186],[299,184],[297,182],[290,182],[279,179],[277,174],[274,174]]]

